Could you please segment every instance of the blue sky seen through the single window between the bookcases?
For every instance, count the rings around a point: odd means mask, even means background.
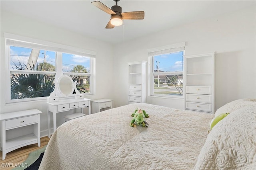
[[[161,71],[183,71],[183,52],[176,52],[171,54],[164,54],[164,55],[158,55],[154,56],[154,70],[157,68],[157,61],[159,70]]]

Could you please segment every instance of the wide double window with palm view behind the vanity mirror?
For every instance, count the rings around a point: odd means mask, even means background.
[[[6,78],[6,102],[44,99],[50,96],[55,80],[63,74],[76,81],[80,93],[92,94],[95,54],[88,52],[26,37],[6,38],[6,70],[10,73]]]

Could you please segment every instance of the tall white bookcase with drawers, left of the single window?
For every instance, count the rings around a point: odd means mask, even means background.
[[[147,102],[147,62],[128,63],[128,104]]]

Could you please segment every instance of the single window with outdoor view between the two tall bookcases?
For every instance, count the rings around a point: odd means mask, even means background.
[[[177,44],[178,47],[152,49],[149,52],[151,96],[181,97],[183,95],[184,45],[181,43]]]

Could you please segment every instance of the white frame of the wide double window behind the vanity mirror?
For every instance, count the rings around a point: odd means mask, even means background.
[[[70,72],[62,72],[62,53],[69,53],[72,55],[81,55],[90,57],[90,73],[76,73],[75,75],[89,75],[90,76],[90,92],[84,93],[85,95],[92,95],[95,94],[95,56],[96,52],[86,50],[86,49],[80,49],[76,47],[71,47],[67,45],[61,45],[57,43],[52,43],[48,41],[43,41],[39,39],[32,39],[28,37],[23,37],[20,35],[14,35],[10,33],[4,33],[5,38],[5,71],[8,73],[8,75],[12,73],[28,73],[28,74],[54,74],[55,80],[54,82],[58,80],[58,78],[62,75],[71,75]],[[18,45],[15,45],[15,42],[17,42]],[[10,44],[14,45],[10,45]],[[22,45],[24,44],[24,45]],[[56,52],[55,55],[55,71],[37,71],[37,70],[12,70],[10,67],[10,46],[16,46],[16,47],[24,47],[24,48],[37,48],[37,49],[43,49],[47,51],[53,51]],[[39,47],[39,48],[38,48]],[[40,48],[41,47],[41,48]],[[6,97],[5,97],[5,103],[17,103],[17,102],[29,102],[29,101],[38,101],[38,100],[46,100],[48,96],[45,97],[36,97],[36,98],[24,98],[24,99],[11,99],[11,82],[10,82],[10,76],[7,74],[5,75],[6,80]]]

